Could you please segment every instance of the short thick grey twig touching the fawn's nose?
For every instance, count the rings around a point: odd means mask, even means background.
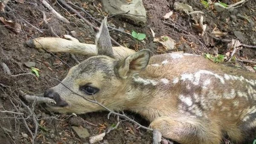
[[[25,92],[22,90],[19,91],[21,93],[21,96],[29,102],[36,101],[38,104],[56,104],[56,102],[51,98],[44,98],[44,97],[38,97],[35,95],[26,95]]]

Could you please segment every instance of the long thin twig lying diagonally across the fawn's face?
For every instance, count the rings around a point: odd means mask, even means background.
[[[51,77],[51,78],[52,78],[52,77]],[[52,78],[52,79],[55,80],[55,81],[58,81],[60,84],[62,84],[63,86],[65,86],[67,89],[69,89],[71,92],[73,92],[74,94],[76,94],[76,95],[78,95],[78,96],[84,98],[86,101],[90,101],[90,102],[92,102],[92,103],[94,103],[94,104],[98,104],[100,107],[103,107],[104,109],[108,110],[108,111],[110,112],[109,115],[110,115],[110,114],[118,115],[118,116],[120,116],[120,117],[122,117],[122,118],[125,118],[125,119],[127,119],[127,120],[133,122],[134,124],[137,124],[137,125],[139,126],[138,128],[142,127],[142,128],[145,129],[145,130],[151,130],[151,131],[153,131],[153,129],[148,128],[148,127],[144,127],[143,125],[141,125],[141,124],[138,123],[137,121],[134,121],[133,119],[129,118],[129,117],[128,117],[127,115],[125,115],[124,113],[123,113],[123,114],[120,114],[120,113],[118,113],[118,112],[113,112],[113,111],[112,111],[111,109],[109,109],[108,107],[105,107],[104,105],[102,105],[102,104],[100,104],[98,101],[96,101],[96,99],[95,99],[94,97],[93,97],[94,100],[90,100],[90,99],[88,99],[88,98],[86,98],[86,97],[80,95],[79,93],[74,92],[72,89],[70,89],[68,86],[66,86],[65,84],[63,84],[63,83],[62,83],[61,81],[59,81],[58,79],[56,79],[56,78]]]

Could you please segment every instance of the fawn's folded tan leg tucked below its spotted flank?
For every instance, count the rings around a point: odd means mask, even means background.
[[[165,116],[156,118],[150,127],[180,144],[220,144],[222,139],[218,125],[209,120]]]

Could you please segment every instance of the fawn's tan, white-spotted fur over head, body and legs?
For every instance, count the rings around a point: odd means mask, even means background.
[[[110,38],[103,33],[100,37]],[[223,136],[238,144],[253,139],[249,134],[256,127],[254,73],[222,66],[198,55],[164,54],[149,58],[148,50],[135,53],[125,47],[113,47],[112,51],[107,45],[102,52],[106,55],[96,56],[95,45],[77,40],[51,37],[27,43],[40,48],[36,41],[51,52],[93,56],[71,68],[62,83],[84,97],[94,97],[109,109],[139,113],[166,138],[180,144],[221,144]],[[111,52],[113,57],[108,56]],[[92,97],[79,89],[87,84],[99,92]],[[49,106],[53,111],[104,110],[62,84],[51,89],[68,104]]]

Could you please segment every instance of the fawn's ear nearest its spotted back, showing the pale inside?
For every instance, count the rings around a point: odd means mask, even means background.
[[[143,49],[128,56],[124,60],[120,60],[116,65],[119,76],[121,78],[127,78],[129,71],[145,69],[148,65],[149,58],[149,49]]]

